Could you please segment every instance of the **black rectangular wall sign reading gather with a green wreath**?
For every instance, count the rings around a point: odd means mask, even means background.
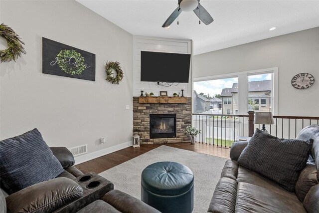
[[[42,73],[95,81],[95,54],[42,37]]]

